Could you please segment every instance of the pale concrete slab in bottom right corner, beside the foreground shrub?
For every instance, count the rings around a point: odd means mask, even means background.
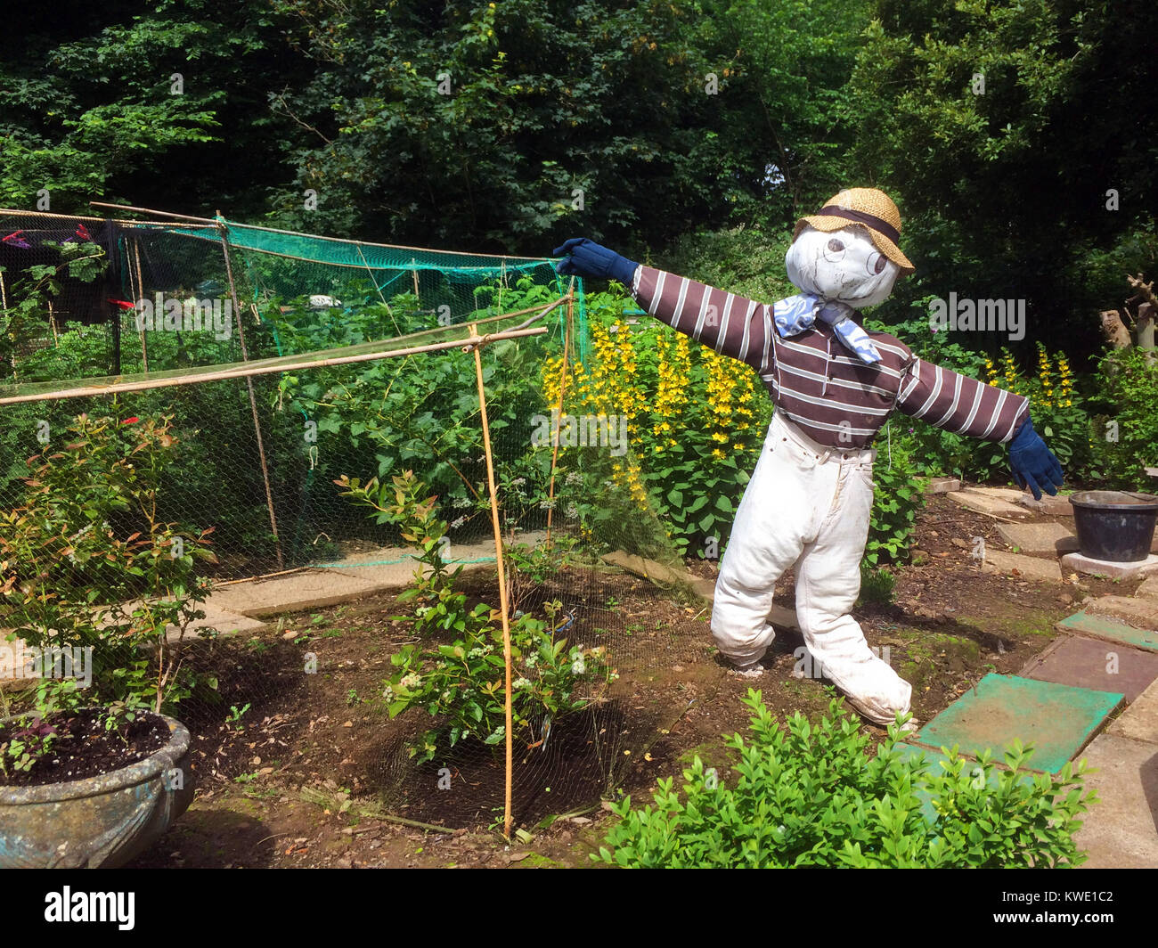
[[[1098,771],[1086,788],[1099,797],[1073,837],[1089,856],[1082,868],[1158,868],[1158,746],[1101,734],[1080,759]]]

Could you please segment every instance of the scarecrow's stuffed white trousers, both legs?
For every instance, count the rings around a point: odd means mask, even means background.
[[[712,634],[738,665],[757,662],[776,637],[772,588],[796,567],[797,619],[824,673],[871,721],[909,710],[913,688],[868,649],[849,614],[872,511],[875,450],[816,444],[779,411],[736,511],[712,607]]]

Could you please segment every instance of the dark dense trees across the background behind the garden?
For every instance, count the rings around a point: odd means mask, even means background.
[[[586,233],[664,254],[704,229],[778,240],[868,183],[897,199],[918,268],[886,318],[951,290],[1026,298],[1029,341],[1063,329],[1075,357],[1098,348],[1091,316],[1122,272],[1158,253],[1145,0],[65,0],[10,16],[0,204],[47,189],[54,211],[127,198],[420,246],[543,254]]]

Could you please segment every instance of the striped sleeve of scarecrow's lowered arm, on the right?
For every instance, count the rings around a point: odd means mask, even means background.
[[[1009,442],[1029,417],[1029,401],[921,358],[901,380],[896,407],[936,428],[985,442]]]

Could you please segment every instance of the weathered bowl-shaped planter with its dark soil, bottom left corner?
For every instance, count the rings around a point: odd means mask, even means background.
[[[160,714],[107,729],[104,709],[0,720],[0,868],[123,866],[192,800],[189,731]],[[12,752],[51,735],[35,759]]]

